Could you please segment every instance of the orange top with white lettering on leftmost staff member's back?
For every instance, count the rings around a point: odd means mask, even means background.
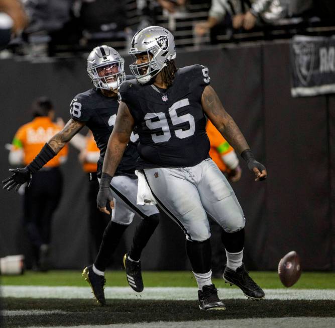
[[[24,152],[24,165],[28,165],[40,152],[44,144],[61,129],[62,127],[53,123],[48,116],[36,117],[19,128],[14,136],[12,149],[22,149]],[[58,167],[60,165],[59,157],[66,157],[67,153],[68,147],[66,145],[44,167]]]

